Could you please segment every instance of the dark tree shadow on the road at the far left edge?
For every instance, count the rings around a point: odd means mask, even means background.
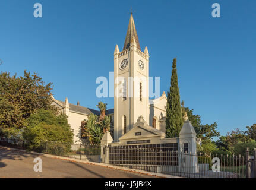
[[[36,155],[30,153],[24,153],[21,151],[8,150],[6,148],[0,147],[0,168],[7,166],[4,160],[23,160],[26,157],[36,157]]]

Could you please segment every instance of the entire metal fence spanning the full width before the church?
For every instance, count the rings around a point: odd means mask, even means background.
[[[0,145],[31,150],[31,143],[15,138],[0,137]],[[32,150],[100,162],[101,146],[48,141]],[[176,143],[107,146],[102,150],[103,154],[108,154],[109,164],[147,172],[186,178],[256,178],[256,150],[253,156],[249,156],[247,150],[246,157],[181,153]]]

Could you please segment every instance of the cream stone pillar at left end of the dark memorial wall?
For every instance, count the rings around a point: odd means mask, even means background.
[[[109,150],[108,145],[109,143],[113,142],[113,138],[110,135],[109,131],[106,131],[105,134],[102,137],[102,140],[100,141],[100,162],[103,163],[109,163]]]

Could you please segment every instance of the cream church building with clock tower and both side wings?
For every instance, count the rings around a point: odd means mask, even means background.
[[[131,130],[139,117],[152,128],[165,132],[165,116],[167,97],[165,92],[157,99],[149,99],[149,53],[144,52],[138,40],[134,18],[131,13],[125,37],[124,47],[120,52],[118,45],[114,51],[115,97],[114,109],[106,110],[114,124],[114,141]],[[93,113],[100,112],[79,105],[53,99],[60,113],[68,116],[68,122],[74,130],[74,142],[78,141],[81,121]],[[96,103],[97,104],[97,103]]]

